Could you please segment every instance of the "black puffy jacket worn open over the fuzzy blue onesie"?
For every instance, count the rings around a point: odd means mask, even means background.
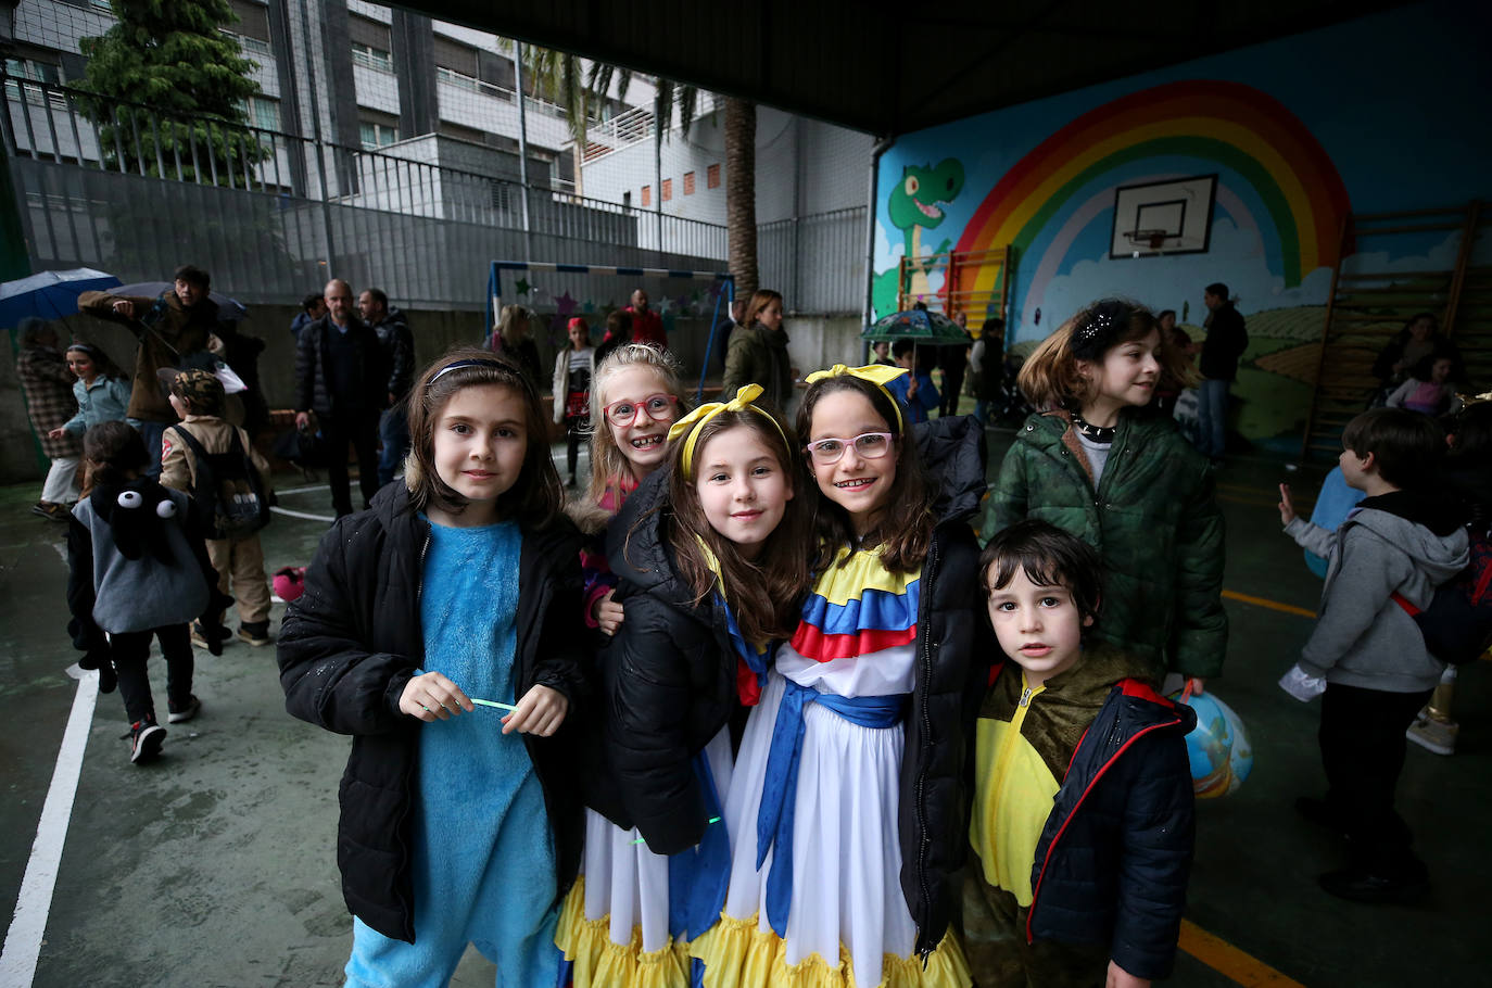
[[[554,828],[561,901],[580,864],[583,818],[568,776],[586,716],[589,654],[580,613],[580,537],[567,518],[524,528],[518,563],[513,685],[565,694],[570,710],[552,737],[524,734]],[[306,590],[279,636],[285,707],[303,721],[352,736],[339,791],[337,866],[348,909],[379,933],[415,940],[413,773],[422,722],[398,698],[425,654],[419,591],[430,524],[403,485],[377,493],[372,510],[339,519],[306,570]]]

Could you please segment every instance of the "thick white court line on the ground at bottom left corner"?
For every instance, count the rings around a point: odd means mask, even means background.
[[[36,961],[42,955],[42,936],[52,907],[57,870],[67,842],[67,821],[78,797],[78,776],[82,773],[88,725],[93,724],[97,700],[98,673],[84,673],[78,681],[78,694],[73,695],[67,730],[63,731],[63,748],[57,754],[52,785],[46,790],[42,819],[36,825],[36,842],[31,845],[31,860],[25,864],[25,878],[21,879],[15,915],[4,934],[4,949],[0,951],[0,985],[6,988],[28,988],[36,978]]]

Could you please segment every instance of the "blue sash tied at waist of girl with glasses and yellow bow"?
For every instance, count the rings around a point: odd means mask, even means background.
[[[803,734],[807,728],[804,707],[810,703],[834,710],[859,727],[894,727],[906,710],[906,694],[882,697],[841,697],[819,692],[786,679],[786,691],[777,707],[777,722],[771,728],[767,749],[767,779],[756,810],[756,869],[773,852],[767,875],[767,922],[779,937],[788,936],[788,910],[792,904],[792,816],[798,792],[798,763],[803,758]]]

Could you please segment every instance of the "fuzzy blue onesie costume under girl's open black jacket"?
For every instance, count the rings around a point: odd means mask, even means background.
[[[468,697],[515,703],[518,560],[513,522],[431,525],[419,621],[421,672],[442,672]],[[349,988],[439,988],[466,945],[497,964],[497,988],[551,988],[564,960],[554,945],[554,836],[519,734],[501,710],[477,706],[425,724],[413,800],[415,943],[354,922]]]

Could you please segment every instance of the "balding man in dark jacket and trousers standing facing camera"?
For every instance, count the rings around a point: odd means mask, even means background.
[[[306,428],[316,413],[340,518],[352,513],[348,443],[358,457],[363,506],[377,493],[377,419],[388,401],[388,369],[377,333],[352,312],[348,282],[327,282],[325,298],[327,315],[301,330],[295,346],[295,427]]]

